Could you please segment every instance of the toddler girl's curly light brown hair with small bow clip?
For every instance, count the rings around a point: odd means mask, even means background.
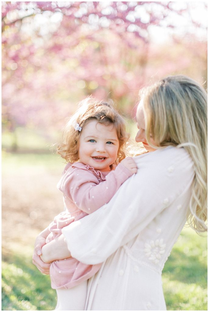
[[[74,163],[79,160],[79,136],[80,131],[75,130],[75,125],[79,124],[83,128],[89,120],[97,120],[100,124],[112,124],[119,140],[119,149],[116,159],[118,164],[126,157],[126,143],[129,134],[126,132],[124,118],[114,108],[112,100],[106,102],[98,101],[94,97],[89,96],[78,104],[78,109],[70,117],[63,131],[63,143],[57,146],[57,153],[61,155],[67,162]]]

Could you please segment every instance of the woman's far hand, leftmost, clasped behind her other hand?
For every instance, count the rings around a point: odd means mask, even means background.
[[[46,245],[46,237],[49,234],[48,228],[43,230],[36,238],[34,251],[33,251],[33,264],[43,274],[49,274],[50,264],[44,263],[41,260],[41,248]]]

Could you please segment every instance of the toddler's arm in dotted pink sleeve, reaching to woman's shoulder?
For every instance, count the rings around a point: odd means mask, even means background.
[[[108,203],[121,184],[132,175],[120,163],[102,182],[99,182],[90,170],[80,168],[73,170],[73,174],[64,180],[63,193],[71,198],[80,210],[88,214]]]

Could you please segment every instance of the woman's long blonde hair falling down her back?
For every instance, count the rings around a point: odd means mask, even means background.
[[[187,215],[196,232],[207,227],[207,92],[186,76],[169,76],[141,92],[147,142],[153,147],[184,147],[195,177]],[[155,145],[150,142],[152,135]]]

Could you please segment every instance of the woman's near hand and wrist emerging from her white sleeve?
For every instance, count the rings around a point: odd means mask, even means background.
[[[71,254],[63,234],[42,247],[41,260],[45,263],[69,257],[71,257]]]

